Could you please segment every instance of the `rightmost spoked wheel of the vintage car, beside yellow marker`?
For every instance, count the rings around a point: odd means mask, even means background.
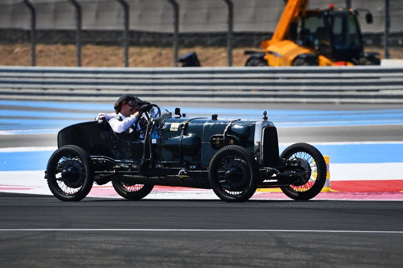
[[[308,176],[298,177],[292,185],[280,187],[284,194],[294,200],[309,200],[320,193],[326,182],[326,163],[317,148],[305,143],[293,144],[281,153],[280,158],[297,158],[301,166],[311,171]]]

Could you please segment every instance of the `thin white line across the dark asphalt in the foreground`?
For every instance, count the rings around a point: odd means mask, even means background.
[[[403,231],[356,231],[356,230],[275,230],[275,229],[0,229],[1,232],[293,232],[293,233],[372,233],[403,234]]]

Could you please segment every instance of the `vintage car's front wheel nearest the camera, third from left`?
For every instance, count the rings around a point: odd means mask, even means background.
[[[259,165],[242,146],[225,146],[211,159],[208,179],[214,193],[227,202],[244,202],[255,194]]]

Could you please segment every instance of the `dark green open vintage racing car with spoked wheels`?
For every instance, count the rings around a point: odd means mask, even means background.
[[[212,189],[222,200],[243,202],[257,188],[272,187],[308,200],[325,184],[322,154],[305,143],[279,154],[277,129],[266,112],[261,120],[193,118],[179,108],[172,115],[150,104],[139,118],[145,124],[130,135],[115,133],[106,121],[60,130],[58,149],[45,171],[51,192],[63,201],[79,201],[93,183],[112,182],[119,195],[131,200],[163,185]]]

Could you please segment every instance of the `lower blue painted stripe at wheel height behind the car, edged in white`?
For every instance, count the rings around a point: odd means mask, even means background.
[[[333,164],[403,162],[403,144],[313,144]],[[280,152],[286,146],[280,146]],[[0,171],[45,170],[53,151],[1,152]]]

